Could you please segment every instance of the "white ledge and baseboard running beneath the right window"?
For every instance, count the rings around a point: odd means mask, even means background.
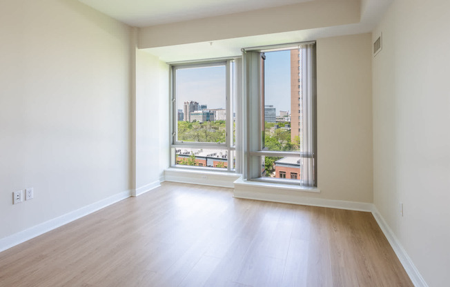
[[[305,192],[320,192],[317,188],[301,188],[281,184],[262,184],[261,182],[235,181],[234,197],[242,199],[255,199],[262,201],[275,201],[283,204],[301,204],[306,206],[320,206],[346,210],[359,210],[370,212],[373,204],[365,202],[342,201],[306,197]]]

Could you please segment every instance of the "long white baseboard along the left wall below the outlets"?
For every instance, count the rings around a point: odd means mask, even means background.
[[[89,215],[90,213],[100,210],[101,208],[105,208],[106,206],[115,204],[118,201],[130,197],[130,194],[131,190],[119,192],[116,195],[113,195],[106,199],[101,199],[100,201],[97,201],[93,204],[84,206],[77,210],[73,210],[66,213],[65,215],[61,215],[60,217],[50,219],[49,221],[43,222],[42,224],[32,226],[26,230],[19,231],[8,237],[4,237],[0,239],[0,252],[32,238],[38,237],[39,235],[42,235],[43,233],[46,233],[50,230],[54,230],[60,226],[68,224],[71,221],[75,221],[81,217]]]

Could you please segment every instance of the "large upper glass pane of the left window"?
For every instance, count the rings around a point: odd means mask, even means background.
[[[177,141],[226,142],[226,67],[176,70]]]

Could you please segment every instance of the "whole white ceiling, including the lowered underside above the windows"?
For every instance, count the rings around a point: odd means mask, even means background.
[[[148,27],[164,23],[176,23],[203,19],[261,8],[273,8],[309,1],[341,0],[79,0],[130,26]],[[251,37],[222,39],[213,42],[188,43],[157,48],[146,52],[162,61],[191,61],[240,55],[240,49],[277,43],[311,41],[324,37],[371,32],[379,23],[393,0],[360,0],[359,23],[314,28]]]

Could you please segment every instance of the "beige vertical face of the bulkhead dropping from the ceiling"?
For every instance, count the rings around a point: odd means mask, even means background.
[[[359,23],[360,1],[320,0],[139,29],[139,48],[154,48]]]

